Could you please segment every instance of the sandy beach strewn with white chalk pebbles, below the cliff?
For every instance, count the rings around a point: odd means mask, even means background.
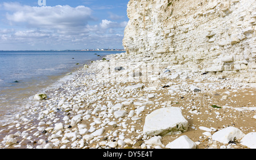
[[[145,64],[151,65],[146,71]],[[178,77],[172,76],[176,73]],[[125,89],[136,84],[143,87]],[[109,55],[77,71],[59,88],[47,90],[47,100],[35,101],[15,120],[1,124],[0,148],[154,149],[165,148],[181,135],[196,142],[197,149],[248,148],[240,140],[214,141],[199,127],[213,128],[211,135],[229,126],[245,134],[255,132],[254,86],[200,70],[174,70],[154,60],[143,63],[143,59],[127,59],[122,54]],[[114,117],[112,107],[117,103],[127,113],[122,118]],[[146,145],[150,136],[143,135],[145,117],[162,107],[180,107],[188,131],[161,137],[160,146]]]

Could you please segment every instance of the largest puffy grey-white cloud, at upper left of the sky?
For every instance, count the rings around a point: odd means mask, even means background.
[[[24,23],[28,27],[44,29],[77,29],[93,20],[89,7],[78,6],[22,6],[19,3],[3,3],[7,11],[6,18],[11,23]]]

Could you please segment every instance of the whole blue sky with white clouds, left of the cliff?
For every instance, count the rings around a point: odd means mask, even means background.
[[[123,49],[129,0],[0,2],[0,50]]]

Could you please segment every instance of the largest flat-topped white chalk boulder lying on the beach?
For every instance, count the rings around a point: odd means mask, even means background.
[[[143,127],[147,136],[175,135],[188,129],[188,121],[184,118],[179,107],[166,107],[148,114]]]

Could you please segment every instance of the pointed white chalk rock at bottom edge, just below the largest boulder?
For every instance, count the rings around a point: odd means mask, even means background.
[[[166,145],[166,148],[171,149],[196,149],[196,144],[188,136],[180,136],[176,140]]]

